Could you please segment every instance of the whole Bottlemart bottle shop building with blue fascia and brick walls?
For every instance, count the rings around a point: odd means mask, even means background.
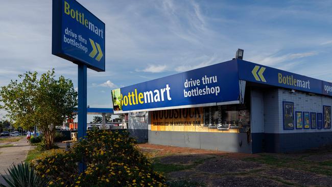
[[[138,142],[231,152],[332,144],[332,83],[241,59],[112,90]]]

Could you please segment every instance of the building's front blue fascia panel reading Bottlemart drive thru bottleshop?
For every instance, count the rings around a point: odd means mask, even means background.
[[[238,103],[239,94],[235,60],[121,88],[123,111]]]

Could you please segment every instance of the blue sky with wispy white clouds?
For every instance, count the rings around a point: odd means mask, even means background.
[[[238,48],[244,60],[332,81],[332,1],[78,2],[106,25],[106,71],[87,72],[90,107],[111,108],[114,88],[231,60]],[[77,65],[51,53],[52,1],[3,1],[0,25],[0,86],[55,68],[77,89]]]

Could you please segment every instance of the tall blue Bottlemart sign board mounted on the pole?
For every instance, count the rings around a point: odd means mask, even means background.
[[[105,24],[75,0],[53,0],[52,54],[105,71]]]

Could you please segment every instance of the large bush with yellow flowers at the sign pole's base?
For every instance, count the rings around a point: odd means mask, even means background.
[[[134,145],[127,133],[89,131],[69,151],[48,153],[32,166],[49,186],[165,186],[164,177]],[[82,160],[87,168],[79,174]]]

